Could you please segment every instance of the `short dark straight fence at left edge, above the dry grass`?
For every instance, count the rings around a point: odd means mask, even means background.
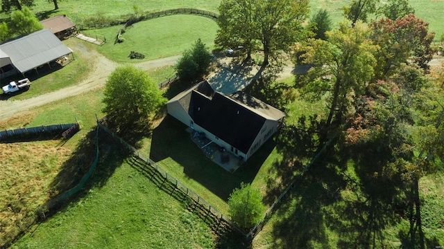
[[[64,138],[72,136],[80,129],[78,123],[42,125],[41,127],[29,127],[0,131],[0,142],[8,139],[28,138],[30,136],[62,133]]]

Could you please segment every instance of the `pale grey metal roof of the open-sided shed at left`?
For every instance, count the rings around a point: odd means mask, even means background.
[[[12,65],[22,74],[72,53],[48,29],[1,44],[0,50],[10,57]]]

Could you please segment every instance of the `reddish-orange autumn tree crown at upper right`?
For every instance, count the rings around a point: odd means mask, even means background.
[[[429,24],[426,21],[410,14],[396,20],[383,18],[373,21],[370,27],[373,30],[370,37],[379,46],[375,53],[376,79],[393,75],[400,64],[406,63],[409,58],[427,71],[427,63],[434,54],[430,46],[434,33],[428,33]]]

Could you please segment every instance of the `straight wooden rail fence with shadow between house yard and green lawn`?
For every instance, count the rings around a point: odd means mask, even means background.
[[[146,174],[149,178],[153,179],[160,188],[169,192],[170,194],[176,194],[180,196],[179,199],[191,201],[193,203],[192,210],[198,210],[199,215],[205,221],[210,221],[209,223],[213,225],[214,230],[218,231],[221,227],[229,226],[231,229],[237,230],[241,232],[241,234],[246,235],[244,230],[241,230],[234,224],[228,216],[225,216],[222,212],[214,208],[210,203],[205,201],[201,196],[196,194],[193,190],[190,190],[187,185],[178,181],[178,179],[168,174],[167,171],[162,169],[157,163],[155,163],[150,158],[144,156],[142,153],[137,151],[133,146],[129,145],[128,142],[117,136],[112,130],[105,127],[104,124],[101,123],[101,120],[98,120],[97,125],[101,130],[106,131],[114,140],[117,140],[128,149],[128,151],[132,152],[135,156],[135,160],[133,161],[133,167],[137,168],[139,172],[142,174]]]

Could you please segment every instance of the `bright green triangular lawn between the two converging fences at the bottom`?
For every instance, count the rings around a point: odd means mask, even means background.
[[[213,248],[202,219],[120,160],[112,151],[82,197],[11,248]]]

